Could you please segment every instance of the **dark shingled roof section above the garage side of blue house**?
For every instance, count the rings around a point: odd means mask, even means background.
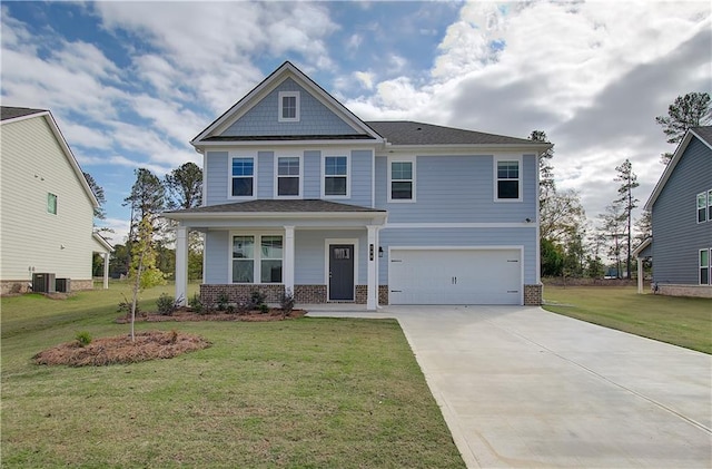
[[[367,121],[368,126],[393,145],[532,145],[525,138],[484,134],[412,120]],[[548,144],[541,144],[550,146]]]

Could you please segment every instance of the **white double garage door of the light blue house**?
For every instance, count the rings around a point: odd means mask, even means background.
[[[390,250],[390,304],[522,304],[520,250]]]

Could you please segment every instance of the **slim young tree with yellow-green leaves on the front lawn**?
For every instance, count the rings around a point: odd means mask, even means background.
[[[154,226],[148,215],[144,216],[138,226],[138,236],[131,247],[131,268],[129,279],[134,282],[134,297],[131,300],[131,342],[136,339],[134,324],[136,322],[136,303],[141,290],[164,285],[166,277],[156,266],[156,250],[152,245]]]

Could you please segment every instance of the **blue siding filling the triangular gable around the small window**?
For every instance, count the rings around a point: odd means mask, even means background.
[[[299,121],[278,121],[279,91],[299,91]],[[332,113],[318,99],[291,78],[286,79],[240,119],[228,127],[222,136],[265,135],[356,135],[340,117]]]

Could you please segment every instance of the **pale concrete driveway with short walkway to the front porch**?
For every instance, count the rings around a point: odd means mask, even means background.
[[[469,468],[711,468],[712,356],[522,306],[396,317]]]

